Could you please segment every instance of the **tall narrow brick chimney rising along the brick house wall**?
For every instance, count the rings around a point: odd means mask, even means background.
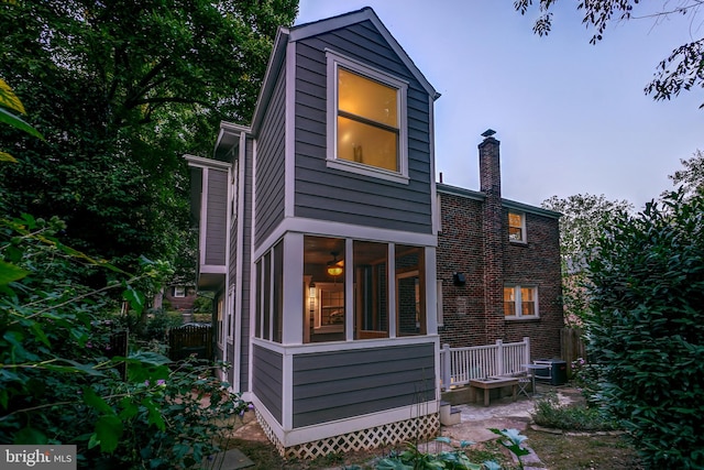
[[[480,149],[480,189],[486,195],[482,210],[484,241],[484,319],[486,343],[504,339],[504,228],[502,174],[498,146],[493,130],[482,134]]]

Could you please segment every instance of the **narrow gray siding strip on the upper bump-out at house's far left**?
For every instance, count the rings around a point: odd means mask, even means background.
[[[224,265],[227,251],[228,172],[208,170],[206,201],[206,264]]]

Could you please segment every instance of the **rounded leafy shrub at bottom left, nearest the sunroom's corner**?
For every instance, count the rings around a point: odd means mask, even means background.
[[[92,409],[86,412],[111,428],[90,436],[82,457],[91,468],[200,468],[220,451],[226,433],[248,405],[227,392],[227,383],[212,380],[210,368],[189,360],[169,370],[164,359],[132,356],[128,381],[105,384],[110,389],[92,384],[96,393],[88,391],[91,397],[85,400]],[[148,362],[152,367],[145,368]],[[106,451],[106,439],[114,450]]]

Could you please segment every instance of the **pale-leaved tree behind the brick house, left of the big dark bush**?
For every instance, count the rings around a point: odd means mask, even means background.
[[[608,200],[604,195],[552,196],[542,201],[560,218],[560,259],[562,263],[562,305],[568,324],[579,324],[588,311],[584,289],[585,266],[594,256],[600,237],[622,212],[632,210],[627,200]]]

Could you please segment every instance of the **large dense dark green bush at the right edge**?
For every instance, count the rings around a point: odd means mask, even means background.
[[[620,216],[590,263],[600,403],[651,468],[704,468],[704,197]]]

